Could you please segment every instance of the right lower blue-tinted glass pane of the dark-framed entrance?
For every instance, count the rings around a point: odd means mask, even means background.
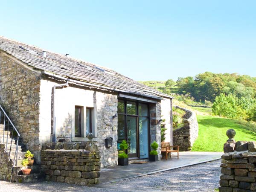
[[[148,158],[148,118],[139,117],[140,158]]]

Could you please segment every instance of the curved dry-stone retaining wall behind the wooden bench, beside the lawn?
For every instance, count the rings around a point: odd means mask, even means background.
[[[191,151],[198,137],[198,121],[194,111],[179,106],[176,108],[185,111],[184,126],[173,131],[173,145],[179,145],[180,151]]]

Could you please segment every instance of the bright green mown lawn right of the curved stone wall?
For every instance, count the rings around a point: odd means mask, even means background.
[[[199,134],[192,151],[223,151],[227,141],[226,131],[233,128],[236,131],[235,140],[256,140],[256,125],[239,120],[215,116],[198,115]]]

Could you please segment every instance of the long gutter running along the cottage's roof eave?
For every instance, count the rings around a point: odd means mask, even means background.
[[[95,88],[99,88],[99,89],[107,89],[107,90],[112,90],[112,91],[119,92],[119,93],[139,95],[139,96],[144,96],[144,97],[148,97],[148,98],[151,98],[151,99],[157,99],[157,100],[162,100],[163,99],[163,97],[160,97],[160,96],[151,96],[151,95],[147,95],[147,94],[135,93],[135,92],[132,92],[132,91],[125,91],[125,90],[115,89],[115,88],[106,87],[106,86],[102,86],[102,85],[97,85],[97,84],[87,83],[87,82],[83,82],[83,81],[68,79],[68,78],[65,78],[65,77],[62,77],[62,76],[59,76],[59,75],[55,75],[53,73],[49,73],[47,71],[42,71],[42,73],[44,75],[52,76],[52,77],[57,78],[57,79],[62,79],[64,81],[69,81],[69,83],[81,84],[81,85],[95,87]],[[166,96],[166,97],[170,98],[170,99],[173,99],[171,96]]]

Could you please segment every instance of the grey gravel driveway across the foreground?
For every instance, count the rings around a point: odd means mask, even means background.
[[[160,172],[94,187],[57,182],[9,183],[0,180],[0,192],[214,192],[218,188],[220,160]]]

